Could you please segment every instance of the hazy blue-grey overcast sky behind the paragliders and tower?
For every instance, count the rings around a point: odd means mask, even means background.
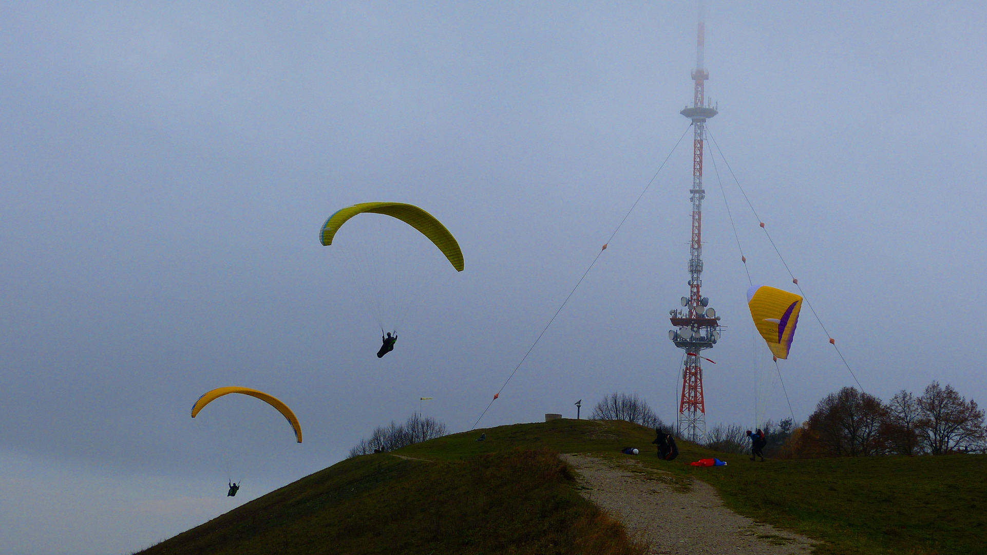
[[[987,402],[987,8],[706,13],[710,129],[863,387]],[[695,22],[691,1],[0,5],[0,551],[138,549],[339,461],[419,397],[469,430],[686,130]],[[612,391],[674,421],[689,138],[481,427]],[[717,164],[753,280],[791,288]],[[706,189],[726,326],[707,420],[750,426],[767,366],[709,156]],[[438,285],[382,359],[358,275],[317,240],[372,200],[424,207],[466,259],[429,259]],[[854,384],[808,311],[781,367],[797,419]],[[785,418],[770,378],[761,409]],[[224,385],[285,401],[305,442],[255,399],[192,421]],[[230,465],[249,469],[235,500]]]

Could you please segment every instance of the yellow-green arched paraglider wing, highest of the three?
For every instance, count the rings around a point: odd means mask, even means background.
[[[463,251],[459,249],[459,242],[452,236],[452,233],[449,233],[449,230],[442,225],[442,222],[435,219],[435,216],[418,206],[402,202],[361,202],[338,210],[329,216],[326,223],[322,224],[319,240],[323,246],[332,245],[333,237],[336,236],[336,232],[339,231],[342,224],[349,218],[363,212],[386,214],[418,229],[418,232],[434,243],[438,250],[442,251],[442,254],[449,259],[449,263],[457,272],[463,271]]]

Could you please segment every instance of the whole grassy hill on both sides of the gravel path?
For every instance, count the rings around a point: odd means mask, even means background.
[[[481,433],[486,441],[476,441]],[[654,432],[561,420],[445,436],[344,460],[143,551],[176,553],[640,553],[575,492],[556,452],[622,457],[714,485],[742,515],[821,540],[822,554],[987,553],[987,456],[768,460]],[[720,456],[725,467],[689,461]]]

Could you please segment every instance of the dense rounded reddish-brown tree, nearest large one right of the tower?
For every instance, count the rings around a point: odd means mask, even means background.
[[[883,452],[878,434],[886,409],[880,399],[844,387],[830,393],[815,407],[806,422],[805,439],[817,442],[822,454],[869,456]]]

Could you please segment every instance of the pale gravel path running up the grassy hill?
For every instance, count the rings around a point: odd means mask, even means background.
[[[579,492],[619,518],[650,553],[806,554],[811,540],[723,507],[713,486],[647,468],[628,458],[564,454],[579,474]]]

